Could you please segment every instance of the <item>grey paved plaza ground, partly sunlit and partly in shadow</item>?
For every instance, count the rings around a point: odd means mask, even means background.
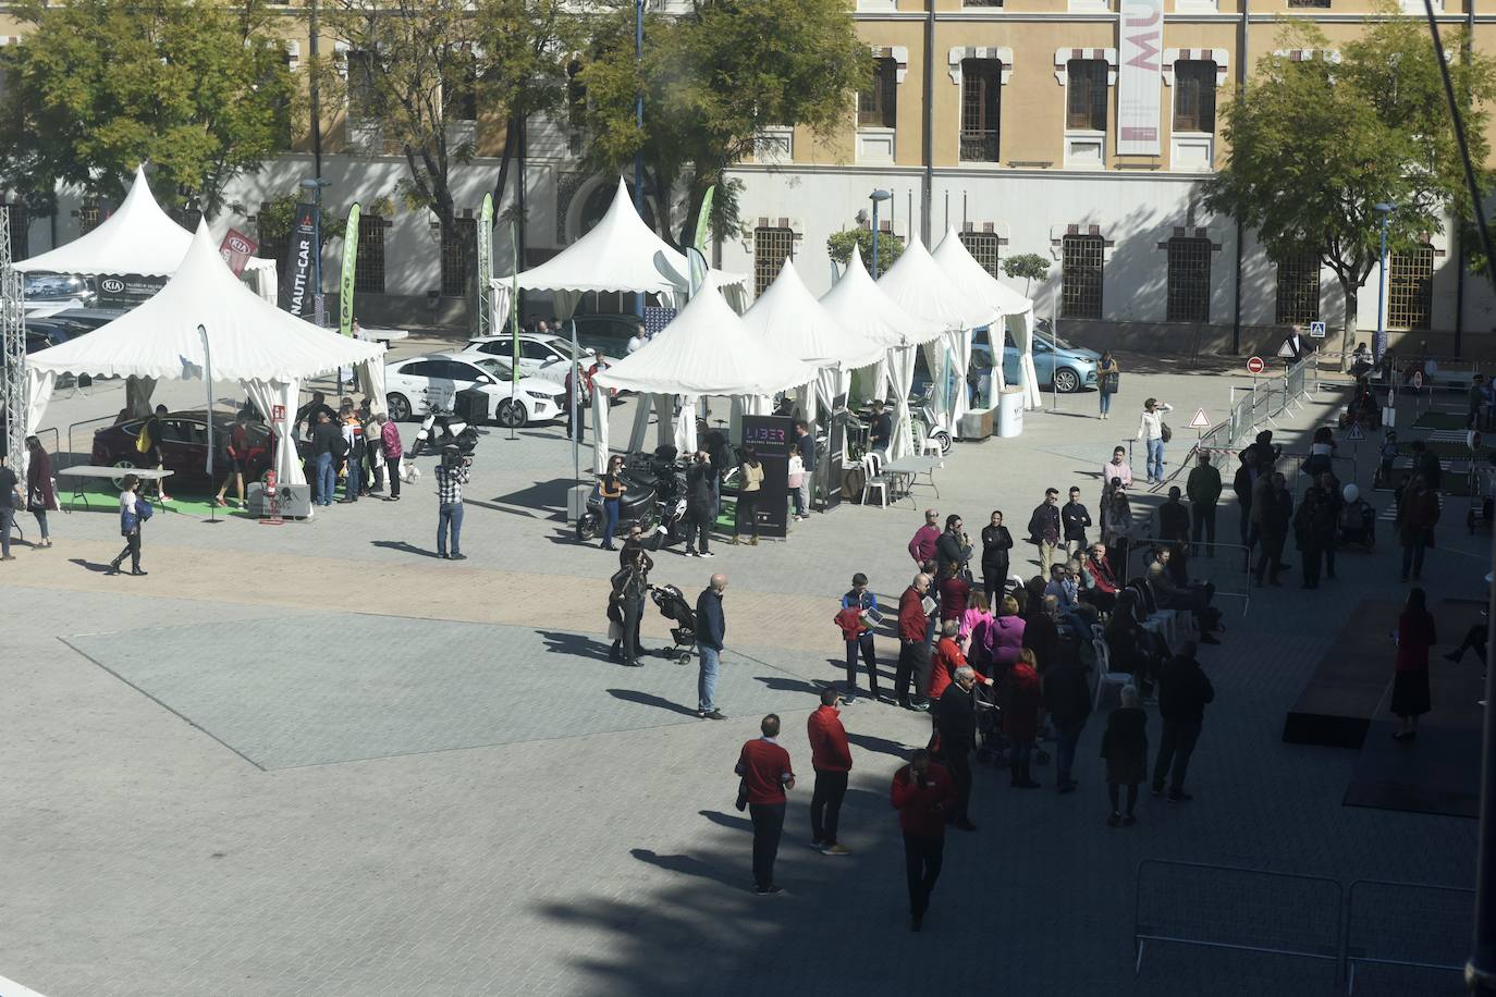
[[[717,544],[712,562],[657,553],[651,580],[691,598],[712,571],[730,578],[727,722],[694,716],[694,662],[607,661],[618,562],[568,535],[558,426],[488,430],[462,564],[431,556],[431,457],[398,505],[284,526],[160,514],[145,528],[145,578],[102,574],[120,549],[114,513],[54,514],[55,547],[21,546],[0,565],[0,975],[46,997],[1330,993],[1291,966],[1177,952],[1150,957],[1134,990],[1134,876],[1161,858],[1471,885],[1474,821],[1345,807],[1357,752],[1279,738],[1349,610],[1402,598],[1390,529],[1375,553],[1342,553],[1340,580],[1316,592],[1296,570],[1281,589],[1251,589],[1245,614],[1245,599],[1221,596],[1224,643],[1200,655],[1216,703],[1188,806],[1144,794],[1137,827],[1106,825],[1104,717],[1082,738],[1076,794],[1053,792],[1053,764],[1035,768],[1046,789],[1026,794],[978,767],[980,831],[950,836],[925,933],[911,936],[887,789],[929,720],[860,700],[842,713],[853,855],[808,848],[805,717],[814,683],[841,677],[832,616],[851,574],[895,601],[925,505],[963,514],[972,535],[999,508],[1017,538],[1046,486],[1079,484],[1097,516],[1100,466],[1137,430],[1144,396],[1174,404],[1177,460],[1194,410],[1219,420],[1248,383],[1234,365],[1123,357],[1123,369],[1112,422],[1095,419],[1095,395],[1061,396],[1017,439],[957,445],[938,499],[925,489],[913,508],[842,507],[785,541]],[[1285,441],[1306,448],[1342,392],[1325,383],[1281,420]],[[180,383],[159,395],[197,401]],[[121,396],[99,384],[48,420],[66,441],[69,423]],[[627,426],[619,407],[615,441]],[[401,425],[407,444],[414,430]],[[91,427],[78,433],[87,448]],[[1373,450],[1342,444],[1363,489]],[[1466,535],[1463,510],[1448,499],[1424,572],[1432,599],[1484,592],[1490,540]],[[30,540],[34,523],[21,522]],[[1221,529],[1234,538],[1230,498]],[[1248,592],[1236,558],[1197,564],[1222,592]],[[669,646],[667,626],[651,604],[646,646]],[[892,683],[896,643],[878,649]],[[1388,674],[1391,659],[1388,641]],[[766,712],[784,717],[800,782],[779,851],[785,892],[758,898],[732,770]],[[1156,747],[1156,712],[1149,726]],[[1204,918],[1231,900],[1186,891],[1179,904]],[[1396,993],[1454,993],[1424,984]]]

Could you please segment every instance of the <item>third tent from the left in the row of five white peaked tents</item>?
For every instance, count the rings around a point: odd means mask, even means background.
[[[923,317],[914,317],[889,297],[889,293],[868,275],[862,256],[851,254],[847,271],[836,284],[821,294],[826,309],[848,329],[862,332],[874,342],[883,344],[887,366],[884,377],[893,390],[893,438],[889,441],[889,456],[902,457],[914,448],[910,435],[910,389],[914,384],[914,347],[936,338],[944,326]],[[883,398],[883,381],[878,378],[878,398]]]

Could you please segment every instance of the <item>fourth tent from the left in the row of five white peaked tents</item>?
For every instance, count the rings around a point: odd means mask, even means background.
[[[1001,318],[1001,312],[956,287],[919,239],[910,239],[898,262],[878,278],[878,287],[889,291],[889,297],[911,315],[941,323],[941,335],[922,345],[925,365],[935,383],[935,405],[956,426],[969,408],[966,371],[971,368],[972,330]],[[948,392],[947,377],[951,371],[956,386]]]

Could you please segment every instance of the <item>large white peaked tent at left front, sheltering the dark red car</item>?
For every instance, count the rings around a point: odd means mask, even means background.
[[[287,484],[304,484],[290,439],[304,378],[359,366],[374,411],[384,410],[384,347],[340,336],[260,299],[227,268],[199,224],[186,257],[154,297],[76,339],[25,359],[27,426],[36,426],[60,374],[239,381],[271,420],[280,442],[275,469]]]

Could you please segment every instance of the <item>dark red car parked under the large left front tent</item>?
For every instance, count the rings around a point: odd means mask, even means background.
[[[114,478],[115,487],[124,475],[136,466],[142,466],[142,454],[135,441],[141,436],[141,426],[145,417],[127,419],[123,423],[106,426],[94,433],[93,463],[120,468],[120,477]],[[218,481],[227,472],[227,457],[223,456],[223,445],[233,429],[233,417],[226,413],[214,413],[212,432],[214,447],[214,477]],[[275,435],[262,422],[250,420],[248,426],[250,451],[244,465],[245,481],[259,481],[271,469],[275,459]],[[202,410],[168,413],[162,419],[162,466],[172,472],[166,490],[174,489],[212,489],[218,481],[208,478],[208,414]],[[298,441],[296,451],[305,460],[311,456],[311,444]]]

